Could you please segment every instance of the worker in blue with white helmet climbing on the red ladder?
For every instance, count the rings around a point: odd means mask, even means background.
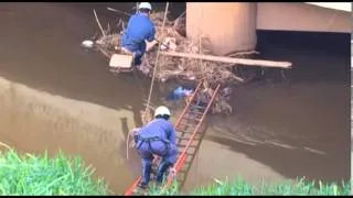
[[[153,154],[162,157],[156,174],[156,182],[163,182],[164,173],[176,161],[176,133],[173,124],[169,121],[170,110],[158,107],[154,119],[140,128],[135,134],[135,146],[141,157],[140,188],[147,188],[152,169]]]

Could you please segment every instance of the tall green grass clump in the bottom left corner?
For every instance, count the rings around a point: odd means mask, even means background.
[[[54,157],[20,155],[12,148],[0,154],[0,195],[107,195],[101,179],[82,158],[58,152]]]

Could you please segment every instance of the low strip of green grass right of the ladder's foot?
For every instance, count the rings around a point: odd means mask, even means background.
[[[170,189],[161,191],[159,188],[152,187],[149,195],[182,195],[178,193],[178,184],[171,186]],[[321,182],[309,182],[304,178],[296,179],[293,182],[280,182],[276,184],[263,184],[253,186],[246,183],[240,177],[233,182],[225,179],[224,182],[215,180],[214,184],[206,187],[197,187],[195,190],[189,193],[194,196],[252,196],[252,195],[317,195],[317,196],[343,196],[350,195],[350,183],[342,184],[323,184]]]

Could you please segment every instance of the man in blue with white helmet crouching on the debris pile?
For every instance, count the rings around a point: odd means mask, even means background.
[[[156,29],[149,18],[151,10],[150,3],[141,2],[139,12],[129,19],[127,29],[121,36],[121,48],[133,54],[133,66],[139,66],[145,52],[157,44],[154,41]],[[148,48],[146,41],[151,45]]]

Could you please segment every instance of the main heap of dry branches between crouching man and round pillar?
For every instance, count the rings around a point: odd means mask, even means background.
[[[156,25],[156,37],[163,37],[165,51],[190,53],[190,54],[213,54],[210,50],[210,41],[201,37],[199,41],[186,38],[182,35],[185,32],[185,18],[179,16],[174,21],[167,20],[162,30],[163,12],[151,14],[151,20]],[[147,53],[146,61],[142,62],[143,68],[153,68],[157,51]],[[156,72],[157,79],[165,81],[168,79],[205,80],[211,85],[236,82],[238,79],[232,70],[224,66],[224,63],[206,62],[194,58],[181,58],[172,56],[159,56]]]

